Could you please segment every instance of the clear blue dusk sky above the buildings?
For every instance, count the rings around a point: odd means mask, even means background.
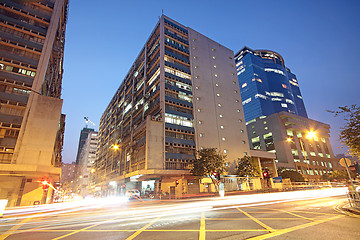
[[[63,162],[76,159],[84,116],[96,124],[162,13],[232,49],[281,54],[296,74],[309,118],[331,125],[335,154],[343,121],[326,110],[360,104],[360,1],[70,0],[63,76]],[[93,127],[89,125],[89,127]]]

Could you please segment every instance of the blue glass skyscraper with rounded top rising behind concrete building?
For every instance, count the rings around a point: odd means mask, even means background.
[[[235,62],[246,121],[282,111],[307,118],[296,76],[280,54],[244,47]]]

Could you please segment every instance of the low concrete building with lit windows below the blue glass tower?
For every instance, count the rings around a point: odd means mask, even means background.
[[[330,126],[289,112],[247,122],[250,147],[276,154],[276,166],[296,169],[305,180],[319,181],[334,170],[343,171],[330,145]],[[308,139],[313,131],[315,137]]]

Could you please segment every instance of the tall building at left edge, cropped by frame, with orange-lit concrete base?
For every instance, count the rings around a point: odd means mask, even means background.
[[[60,179],[67,0],[0,0],[0,198],[51,200]]]

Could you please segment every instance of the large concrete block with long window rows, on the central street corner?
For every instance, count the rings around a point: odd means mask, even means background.
[[[230,163],[249,154],[233,56],[162,16],[101,117],[97,189],[199,192],[196,150],[215,147]]]

